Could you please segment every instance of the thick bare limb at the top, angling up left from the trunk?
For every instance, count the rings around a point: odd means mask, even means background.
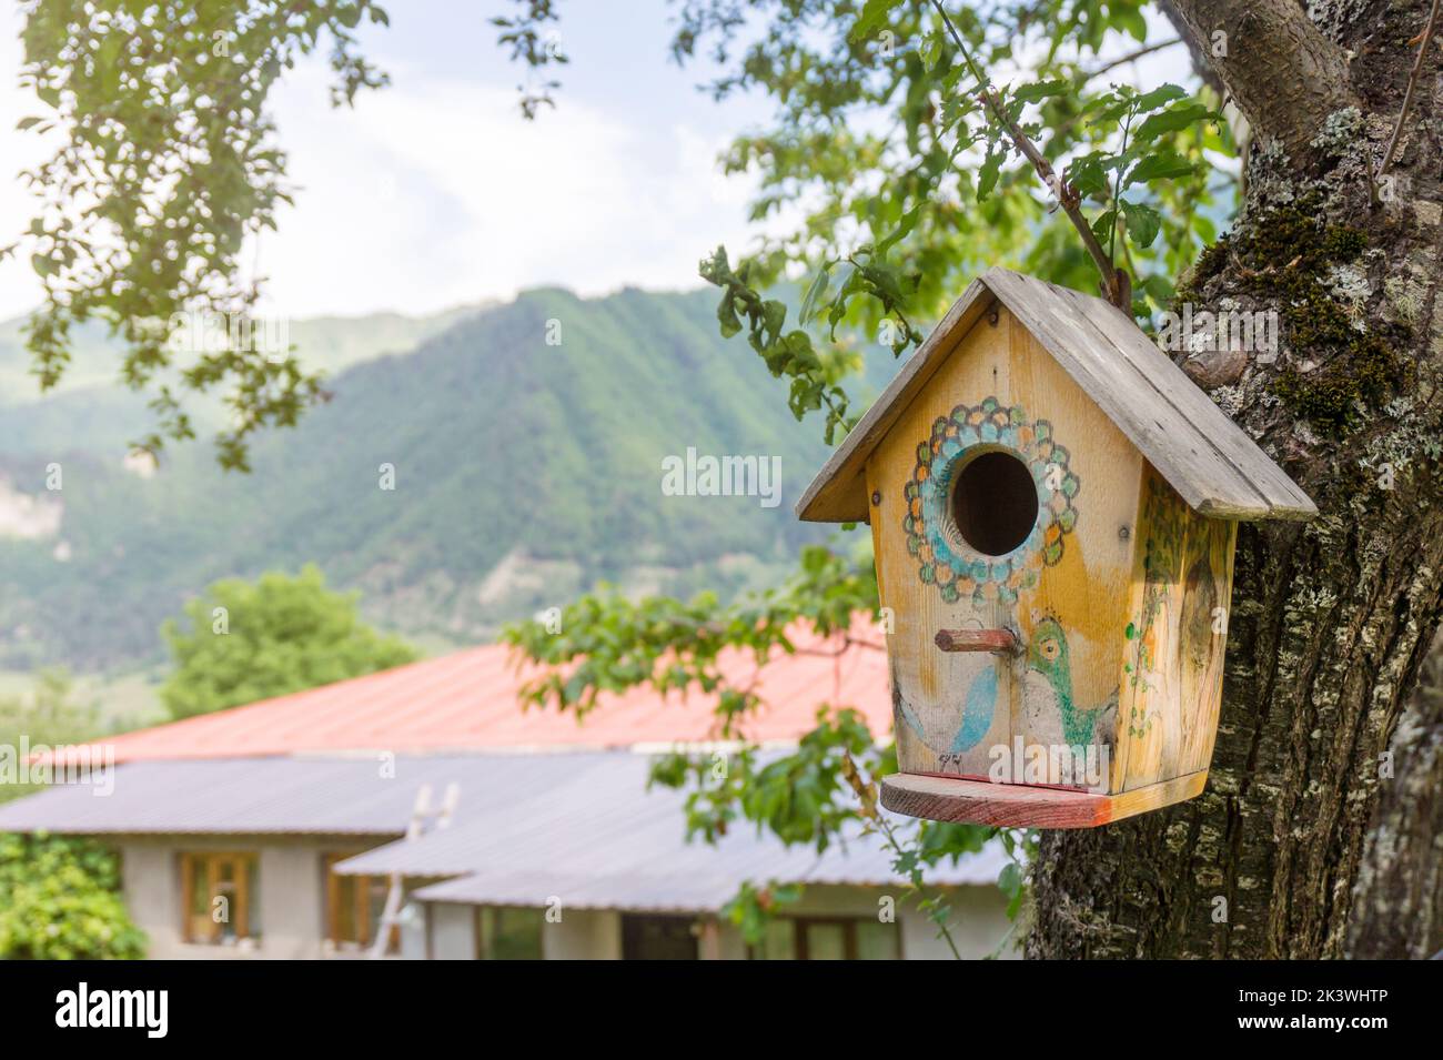
[[[1297,0],[1170,0],[1254,134],[1302,159],[1333,111],[1359,107],[1343,50]],[[1215,36],[1221,33],[1222,36]]]

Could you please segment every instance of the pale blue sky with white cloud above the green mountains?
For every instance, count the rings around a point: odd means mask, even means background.
[[[749,177],[717,154],[765,120],[755,100],[716,104],[706,69],[670,61],[664,0],[563,4],[558,107],[524,121],[525,72],[488,23],[508,0],[391,0],[390,27],[367,27],[362,53],[391,85],[333,110],[325,56],[273,92],[296,206],[245,255],[267,278],[267,310],[306,317],[429,313],[560,284],[582,294],[625,286],[698,287],[697,261],[745,247]],[[16,85],[16,4],[0,14],[0,159],[42,157],[14,130],[39,104]],[[32,200],[0,182],[0,242],[29,224]],[[0,317],[32,309],[25,257],[0,264]]]

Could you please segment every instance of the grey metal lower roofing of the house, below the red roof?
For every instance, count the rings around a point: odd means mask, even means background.
[[[423,783],[439,802],[460,786],[453,822],[342,862],[352,874],[452,877],[434,901],[714,910],[743,881],[889,884],[876,836],[818,855],[737,822],[720,844],[685,841],[685,796],[646,789],[651,757],[628,751],[403,756],[394,777],[375,757],[133,761],[114,790],[56,786],[0,806],[0,831],[84,835],[375,835],[405,831]],[[1003,865],[984,851],[935,874],[939,884],[991,884]]]

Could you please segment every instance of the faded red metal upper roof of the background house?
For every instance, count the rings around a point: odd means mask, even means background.
[[[792,637],[799,653],[776,656],[760,672],[765,707],[745,725],[758,741],[795,740],[815,724],[818,705],[856,707],[872,731],[892,725],[882,637],[859,627],[844,646],[814,635]],[[840,650],[838,649],[843,649]],[[804,653],[818,652],[818,653]],[[756,672],[750,652],[722,656],[730,681]],[[707,740],[714,695],[662,699],[651,689],[603,698],[582,724],[570,712],[530,707],[517,691],[525,673],[511,649],[488,645],[364,678],[293,692],[218,714],[111,737],[117,761],[140,759],[235,759],[323,751],[434,753],[457,750],[631,747]]]

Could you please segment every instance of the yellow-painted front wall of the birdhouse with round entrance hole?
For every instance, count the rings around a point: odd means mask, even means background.
[[[1020,479],[974,483],[983,456]],[[957,343],[867,463],[903,772],[1074,786],[1027,769],[1091,748],[1100,773],[1075,786],[1107,789],[1141,469],[1004,309]],[[973,547],[1023,502],[1019,544]],[[939,630],[1009,630],[1019,652],[945,652]]]

